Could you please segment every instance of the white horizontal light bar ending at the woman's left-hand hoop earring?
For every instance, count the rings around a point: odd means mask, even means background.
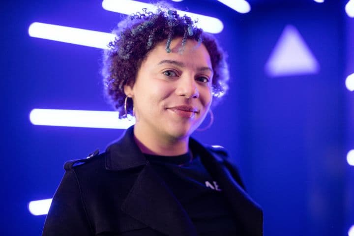
[[[33,109],[29,120],[34,125],[126,129],[135,123],[134,118],[118,119],[118,112]]]

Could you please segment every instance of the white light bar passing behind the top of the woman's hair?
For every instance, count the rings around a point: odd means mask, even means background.
[[[156,9],[153,4],[134,1],[134,0],[103,0],[103,9],[107,11],[114,11],[126,15],[142,11],[143,8],[147,8],[151,11]],[[191,13],[187,11],[177,11],[179,15],[187,15],[193,20],[198,19],[197,26],[209,33],[220,33],[224,29],[223,23],[214,17],[204,16],[196,13]]]

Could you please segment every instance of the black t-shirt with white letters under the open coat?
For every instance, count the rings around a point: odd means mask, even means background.
[[[199,156],[191,152],[145,156],[185,209],[199,235],[237,235],[239,227],[232,207]]]

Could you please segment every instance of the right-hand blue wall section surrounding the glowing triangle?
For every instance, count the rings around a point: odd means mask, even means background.
[[[265,209],[266,235],[344,235],[343,19],[338,3],[263,4],[241,24],[245,177]],[[293,25],[320,71],[269,77],[264,65]]]

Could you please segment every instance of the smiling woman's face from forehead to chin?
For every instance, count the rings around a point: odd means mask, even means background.
[[[212,101],[213,71],[207,49],[187,40],[180,52],[181,41],[172,40],[171,53],[166,53],[166,41],[157,44],[143,61],[133,87],[124,87],[133,98],[135,129],[151,137],[189,137]]]

